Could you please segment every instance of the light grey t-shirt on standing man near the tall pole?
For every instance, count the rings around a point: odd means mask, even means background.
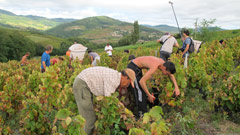
[[[171,36],[171,35],[164,35],[162,36],[159,40],[164,42],[165,40],[167,40],[167,38]],[[173,50],[173,46],[177,44],[177,40],[171,36],[163,45],[160,51],[165,51],[168,53],[172,53]]]

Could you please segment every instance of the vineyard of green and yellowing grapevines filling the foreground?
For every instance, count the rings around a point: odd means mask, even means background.
[[[114,51],[112,58],[101,53],[99,66],[121,71],[127,67],[130,54],[155,56],[159,48],[156,44],[132,49],[129,54]],[[29,60],[31,64],[26,66],[20,66],[18,61],[0,63],[0,135],[84,135],[85,119],[78,114],[72,85],[75,77],[91,66],[85,57],[83,64],[72,62],[73,69],[65,60],[50,66],[45,73],[40,73],[40,59]],[[147,82],[150,92],[159,95],[159,105],[149,106],[149,112],[139,120],[126,108],[131,106],[127,91],[94,97],[94,133],[217,134],[221,127],[210,129],[209,123],[227,120],[234,126],[224,133],[239,134],[240,37],[227,40],[225,45],[218,41],[205,43],[199,53],[190,55],[187,69],[183,68],[180,54],[172,54],[171,61],[177,69],[179,97],[173,96],[174,85],[161,71]]]

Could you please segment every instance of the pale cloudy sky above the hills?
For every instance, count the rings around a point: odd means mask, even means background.
[[[203,19],[212,26],[240,29],[240,0],[171,0],[181,28],[194,28]],[[177,27],[169,0],[0,0],[0,9],[17,15],[83,19],[109,16],[139,24]]]

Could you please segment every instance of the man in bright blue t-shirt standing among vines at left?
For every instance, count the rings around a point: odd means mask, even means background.
[[[46,67],[50,66],[50,53],[52,52],[53,47],[52,46],[47,46],[45,52],[42,54],[41,57],[41,72],[45,72],[46,71]]]

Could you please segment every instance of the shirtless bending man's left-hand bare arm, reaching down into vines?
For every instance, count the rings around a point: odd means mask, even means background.
[[[146,73],[146,74],[141,78],[141,80],[139,81],[142,89],[144,90],[144,92],[145,92],[145,93],[147,94],[147,96],[148,96],[148,100],[149,100],[150,102],[152,102],[152,103],[153,103],[155,97],[152,96],[152,95],[150,94],[150,92],[148,91],[148,88],[147,88],[147,85],[146,85],[146,81],[149,80],[149,79],[152,77],[153,73],[154,73],[156,70],[157,70],[157,68],[148,70],[147,73]]]

